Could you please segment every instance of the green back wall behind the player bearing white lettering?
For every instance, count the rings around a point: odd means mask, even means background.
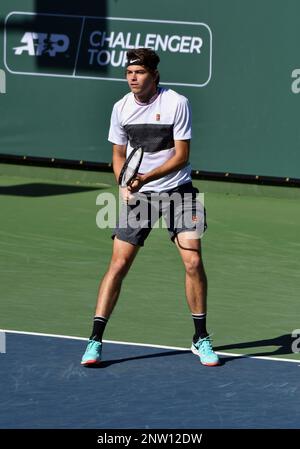
[[[300,178],[299,14],[297,0],[1,0],[0,153],[110,162],[110,112],[127,92],[122,36],[125,45],[175,36],[158,50],[161,81],[191,101],[193,168]],[[46,33],[41,54],[38,45],[15,54],[33,31]],[[103,32],[121,33],[114,48],[100,48]]]

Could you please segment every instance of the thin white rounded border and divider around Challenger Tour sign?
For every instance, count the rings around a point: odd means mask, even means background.
[[[210,54],[209,54],[209,74],[208,79],[205,81],[205,83],[202,84],[189,84],[189,83],[168,83],[168,82],[161,82],[162,85],[168,85],[168,86],[188,86],[188,87],[205,87],[211,80],[212,75],[212,31],[204,22],[183,22],[178,20],[151,20],[151,19],[138,19],[138,18],[129,18],[129,17],[100,17],[100,16],[77,16],[74,14],[51,14],[51,13],[34,13],[34,12],[26,12],[26,11],[11,11],[6,17],[4,21],[4,65],[6,70],[9,73],[16,74],[16,75],[30,75],[30,76],[49,76],[54,78],[75,78],[75,79],[95,79],[95,80],[106,80],[106,81],[126,81],[122,78],[100,78],[95,76],[81,76],[81,75],[75,75],[76,72],[76,65],[77,65],[77,59],[79,54],[79,47],[77,48],[77,57],[76,57],[76,64],[73,70],[73,75],[57,75],[57,74],[51,74],[51,73],[34,73],[34,72],[17,72],[11,70],[7,65],[7,54],[6,54],[6,25],[7,21],[10,16],[13,14],[23,14],[27,16],[56,16],[56,17],[71,17],[71,18],[82,18],[83,23],[85,23],[85,19],[105,19],[105,20],[123,20],[125,22],[150,22],[150,23],[168,23],[168,24],[176,24],[176,25],[193,25],[193,26],[204,26],[209,32],[210,37]],[[81,44],[81,38],[83,33],[83,27],[81,28],[81,34],[80,34],[80,44]]]

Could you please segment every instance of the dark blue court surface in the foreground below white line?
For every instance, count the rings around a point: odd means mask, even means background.
[[[86,342],[7,334],[0,354],[0,428],[299,428],[297,363],[223,358],[106,343],[102,368]]]

